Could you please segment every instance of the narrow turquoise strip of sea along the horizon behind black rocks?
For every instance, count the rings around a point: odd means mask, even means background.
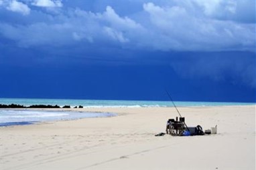
[[[70,105],[75,107],[173,107],[171,101],[121,101],[121,100],[78,100],[78,99],[3,99],[0,104],[9,105],[11,103],[19,105]],[[223,106],[223,105],[255,105],[255,103],[228,103],[228,102],[199,102],[199,101],[174,101],[176,106],[196,107],[196,106]]]

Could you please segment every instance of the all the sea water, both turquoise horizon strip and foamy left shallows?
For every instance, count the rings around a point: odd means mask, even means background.
[[[0,104],[10,105],[70,105],[75,107],[174,107],[171,101],[117,101],[117,100],[80,100],[80,99],[3,99]],[[255,103],[194,102],[174,101],[177,107],[206,107],[224,105],[255,105]],[[0,126],[29,125],[44,121],[59,121],[92,117],[113,117],[114,113],[88,113],[79,111],[40,111],[26,109],[0,109]]]

